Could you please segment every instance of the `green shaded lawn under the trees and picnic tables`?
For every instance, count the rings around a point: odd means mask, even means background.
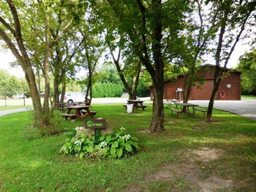
[[[256,190],[256,122],[213,111],[176,117],[165,109],[164,132],[148,133],[152,106],[127,114],[122,104],[94,105],[97,117],[112,128],[124,126],[142,151],[120,160],[79,159],[59,154],[68,131],[82,120],[63,121],[55,129],[30,128],[31,111],[0,117],[0,191],[165,192]],[[44,136],[42,136],[44,135]]]

